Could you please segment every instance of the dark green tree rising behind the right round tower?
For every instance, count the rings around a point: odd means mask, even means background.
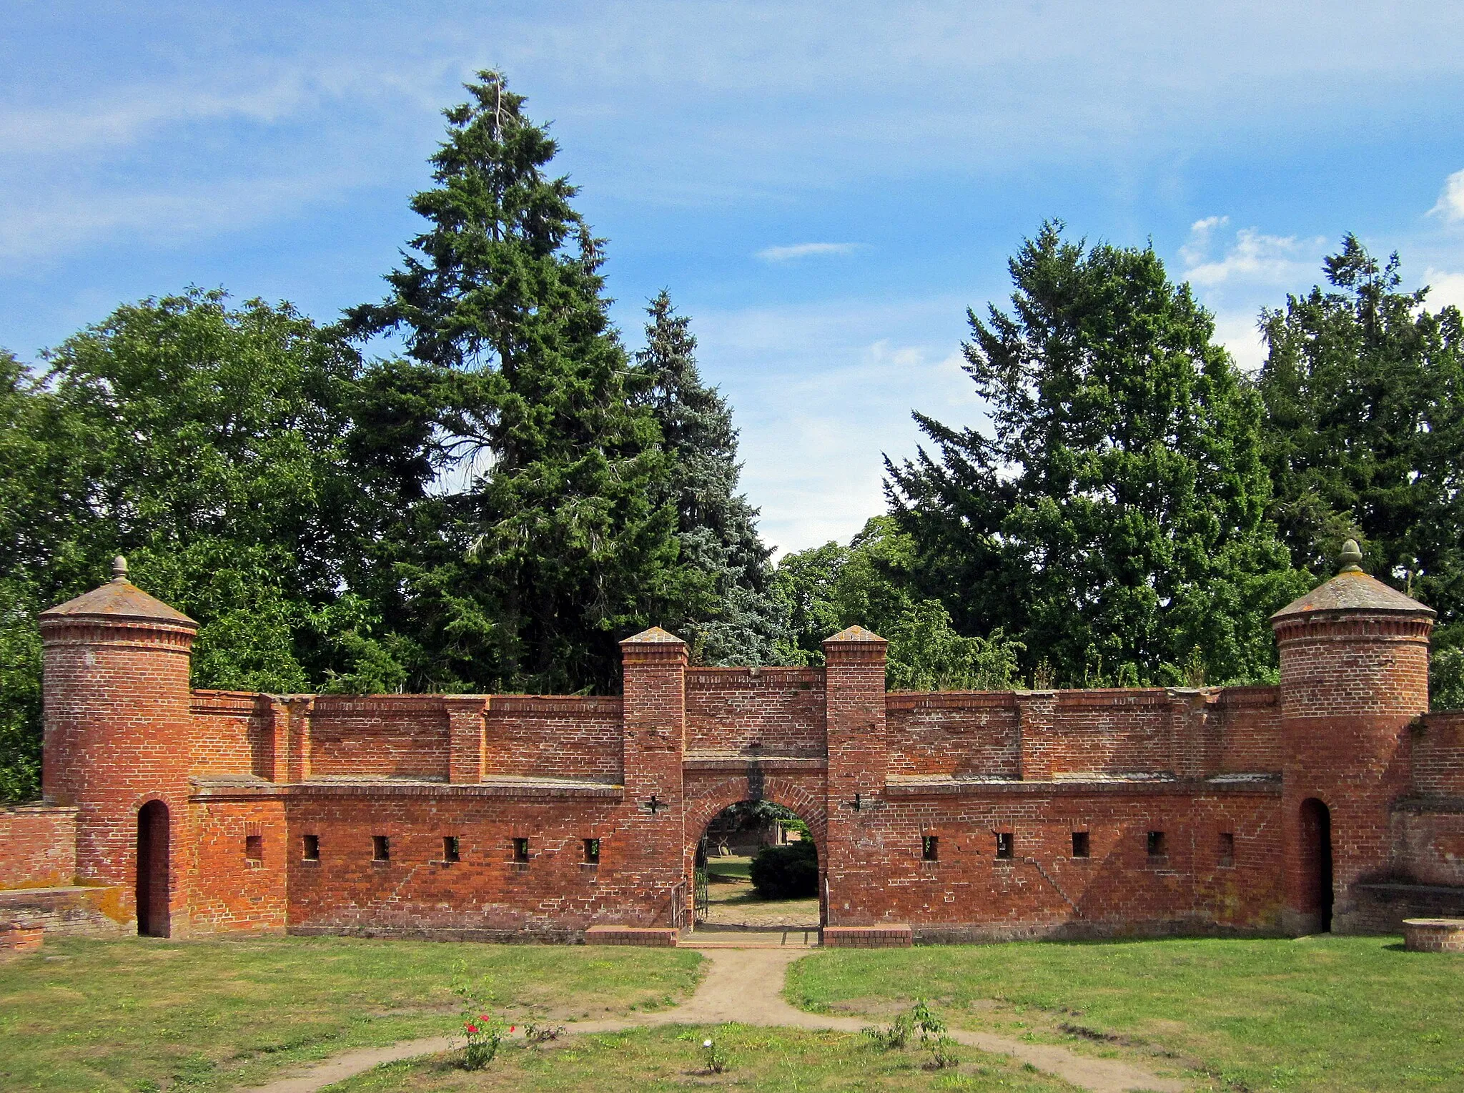
[[[1356,537],[1375,576],[1439,612],[1442,653],[1464,644],[1464,320],[1356,236],[1323,268],[1325,288],[1262,312],[1275,521],[1316,572]]]

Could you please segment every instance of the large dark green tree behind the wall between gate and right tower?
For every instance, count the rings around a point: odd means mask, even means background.
[[[1012,313],[968,312],[991,432],[916,413],[934,452],[886,464],[921,593],[1063,685],[1268,675],[1266,613],[1306,578],[1265,519],[1259,398],[1211,316],[1152,249],[1057,222],[1009,268]]]

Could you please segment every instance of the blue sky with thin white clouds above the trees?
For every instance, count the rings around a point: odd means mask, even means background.
[[[10,0],[0,345],[223,285],[331,319],[499,67],[609,237],[630,345],[692,316],[780,549],[881,511],[911,408],[974,424],[965,309],[1045,217],[1152,240],[1255,367],[1345,231],[1464,304],[1464,6]]]

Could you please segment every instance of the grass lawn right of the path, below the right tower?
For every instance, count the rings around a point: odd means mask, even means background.
[[[1221,1089],[1464,1090],[1464,955],[1397,938],[839,950],[788,980],[789,1001],[818,1011],[916,996],[960,1027],[1179,1052]]]

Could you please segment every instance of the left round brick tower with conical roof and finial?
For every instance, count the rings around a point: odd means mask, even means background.
[[[143,934],[186,929],[189,654],[198,623],[127,581],[41,612],[45,799],[73,805],[76,872]]]

